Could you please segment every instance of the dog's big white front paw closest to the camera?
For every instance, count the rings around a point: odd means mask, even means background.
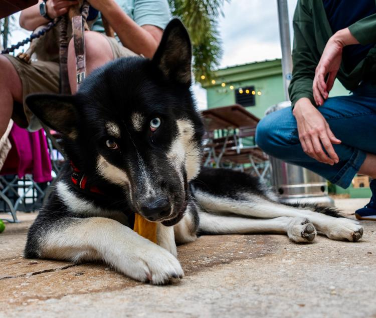
[[[118,267],[127,276],[139,281],[149,281],[155,285],[173,282],[182,278],[184,272],[179,261],[164,248],[149,242],[128,257],[124,257]]]

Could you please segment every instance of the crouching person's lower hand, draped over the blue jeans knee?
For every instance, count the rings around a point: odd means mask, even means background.
[[[303,151],[319,162],[330,165],[338,163],[339,158],[332,144],[340,144],[341,141],[334,136],[325,118],[312,105],[311,101],[308,98],[299,99],[295,103],[293,115],[297,122]]]

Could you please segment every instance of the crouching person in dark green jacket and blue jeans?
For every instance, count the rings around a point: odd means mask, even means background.
[[[343,188],[356,173],[376,178],[376,2],[298,0],[293,28],[292,109],[262,119],[257,144]],[[352,94],[328,98],[335,78]],[[359,219],[376,220],[370,188]]]

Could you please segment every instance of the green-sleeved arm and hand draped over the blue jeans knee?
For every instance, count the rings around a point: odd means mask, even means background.
[[[289,93],[293,115],[297,122],[299,141],[308,156],[319,162],[333,165],[339,161],[339,158],[332,144],[339,144],[341,141],[335,138],[325,118],[314,106],[312,84],[318,59],[312,52],[315,35],[310,11],[301,1],[298,1],[295,10],[293,26],[293,76]]]

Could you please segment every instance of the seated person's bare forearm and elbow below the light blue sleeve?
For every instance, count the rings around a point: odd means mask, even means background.
[[[114,0],[89,0],[89,2],[106,18],[124,47],[147,58],[154,55],[162,38],[162,29],[151,25],[140,27]]]

